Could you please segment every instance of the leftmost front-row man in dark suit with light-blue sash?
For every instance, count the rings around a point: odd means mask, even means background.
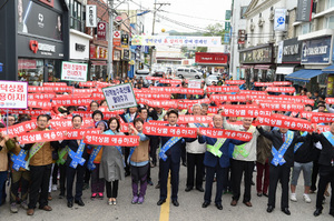
[[[82,118],[81,115],[75,115],[72,118],[72,125],[73,129],[80,129],[82,124]],[[79,145],[80,145],[80,140],[63,140],[61,142],[61,148],[68,147],[69,151],[72,150],[75,153],[78,152]],[[86,147],[84,148],[82,155],[81,158],[87,159],[88,153],[85,150]],[[84,207],[85,203],[81,199],[82,197],[82,188],[84,188],[84,175],[86,172],[85,164],[80,165],[78,164],[76,168],[71,167],[72,159],[70,155],[67,157],[66,160],[66,180],[67,180],[67,207],[72,208],[73,207],[73,200],[78,205]],[[75,177],[77,174],[77,182],[76,182],[76,195],[73,198],[72,189],[73,189],[73,182],[75,182]]]

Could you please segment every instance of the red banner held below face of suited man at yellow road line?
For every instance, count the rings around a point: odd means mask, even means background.
[[[161,137],[197,138],[197,128],[153,125],[145,123],[143,133]]]

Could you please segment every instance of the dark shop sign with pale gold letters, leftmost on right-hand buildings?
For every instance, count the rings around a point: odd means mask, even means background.
[[[239,51],[240,63],[272,63],[273,47],[266,46],[262,48],[246,49]]]

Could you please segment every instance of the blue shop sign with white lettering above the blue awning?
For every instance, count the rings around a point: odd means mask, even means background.
[[[303,41],[302,63],[330,63],[332,37]]]

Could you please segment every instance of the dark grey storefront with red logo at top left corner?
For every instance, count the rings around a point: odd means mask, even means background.
[[[69,59],[65,6],[63,0],[16,0],[4,4],[7,13],[0,12],[1,79],[33,86],[60,80],[61,61]]]

